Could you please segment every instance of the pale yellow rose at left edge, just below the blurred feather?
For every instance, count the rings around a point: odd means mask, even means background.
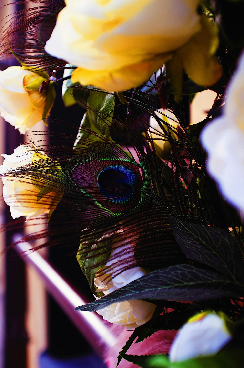
[[[25,88],[37,79],[42,82],[45,78],[22,67],[9,67],[0,71],[0,114],[22,134],[43,119],[46,92],[39,93],[38,88]],[[45,118],[48,112],[44,113]]]

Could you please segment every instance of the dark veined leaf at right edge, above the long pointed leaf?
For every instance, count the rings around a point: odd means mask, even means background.
[[[210,266],[233,282],[243,283],[243,260],[234,238],[217,227],[189,224],[169,216],[173,233],[187,258]]]

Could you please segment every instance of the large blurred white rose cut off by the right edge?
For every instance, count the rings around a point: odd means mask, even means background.
[[[201,132],[208,153],[206,167],[223,196],[244,213],[244,54],[226,90],[223,115]]]

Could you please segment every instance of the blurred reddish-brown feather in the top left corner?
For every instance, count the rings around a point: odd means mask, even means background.
[[[32,70],[43,71],[64,65],[65,61],[50,56],[44,50],[50,38],[56,18],[65,3],[62,0],[27,0],[24,10],[12,14],[0,34],[0,53],[3,59],[12,57]],[[37,6],[34,6],[37,4]],[[11,4],[9,4],[11,5]],[[28,7],[31,6],[31,7]]]

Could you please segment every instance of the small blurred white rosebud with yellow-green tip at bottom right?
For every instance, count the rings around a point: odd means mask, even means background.
[[[169,352],[171,362],[218,353],[232,335],[224,319],[213,313],[201,313],[191,318],[177,333]]]

